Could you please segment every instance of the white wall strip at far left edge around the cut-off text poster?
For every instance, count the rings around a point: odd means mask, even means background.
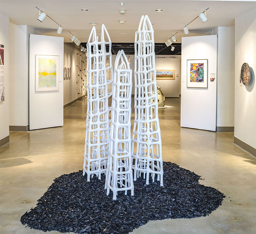
[[[4,101],[0,102],[0,142],[9,142],[9,16],[0,13],[0,44],[4,45]],[[1,145],[0,144],[0,145]]]

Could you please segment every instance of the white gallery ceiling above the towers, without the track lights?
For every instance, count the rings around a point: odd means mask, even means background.
[[[28,25],[40,28],[46,35],[63,36],[65,42],[70,42],[72,32],[82,42],[87,42],[90,30],[89,23],[97,23],[96,29],[101,31],[104,24],[112,42],[133,42],[140,17],[147,14],[155,31],[155,42],[163,43],[175,32],[177,42],[185,36],[183,27],[205,9],[208,20],[202,23],[199,18],[189,24],[190,33],[186,36],[203,35],[218,26],[231,26],[234,18],[256,7],[255,1],[195,1],[195,0],[0,0],[0,12],[10,16],[10,21],[16,25]],[[37,20],[42,9],[47,15],[57,21],[62,27],[61,35],[56,33],[58,25],[48,17],[41,23]],[[89,9],[88,12],[80,11]],[[120,15],[118,9],[127,9],[125,15]],[[156,12],[155,9],[163,9]],[[125,19],[120,24],[119,19]],[[127,33],[127,34],[120,34]]]

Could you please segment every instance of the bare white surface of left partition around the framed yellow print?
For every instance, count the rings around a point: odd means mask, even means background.
[[[29,129],[63,126],[63,38],[30,34]],[[59,90],[35,92],[35,55],[59,56]]]

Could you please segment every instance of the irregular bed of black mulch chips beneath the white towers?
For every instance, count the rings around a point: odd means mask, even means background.
[[[163,163],[163,184],[134,181],[134,196],[118,192],[112,200],[105,180],[86,181],[82,171],[61,175],[20,219],[22,224],[44,232],[128,234],[150,220],[207,216],[222,204],[223,193],[200,185],[200,176],[179,165]]]

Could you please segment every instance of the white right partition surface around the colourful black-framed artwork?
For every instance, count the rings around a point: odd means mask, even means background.
[[[181,54],[181,127],[216,131],[217,35],[183,37]],[[208,59],[208,88],[187,88],[187,59]]]

